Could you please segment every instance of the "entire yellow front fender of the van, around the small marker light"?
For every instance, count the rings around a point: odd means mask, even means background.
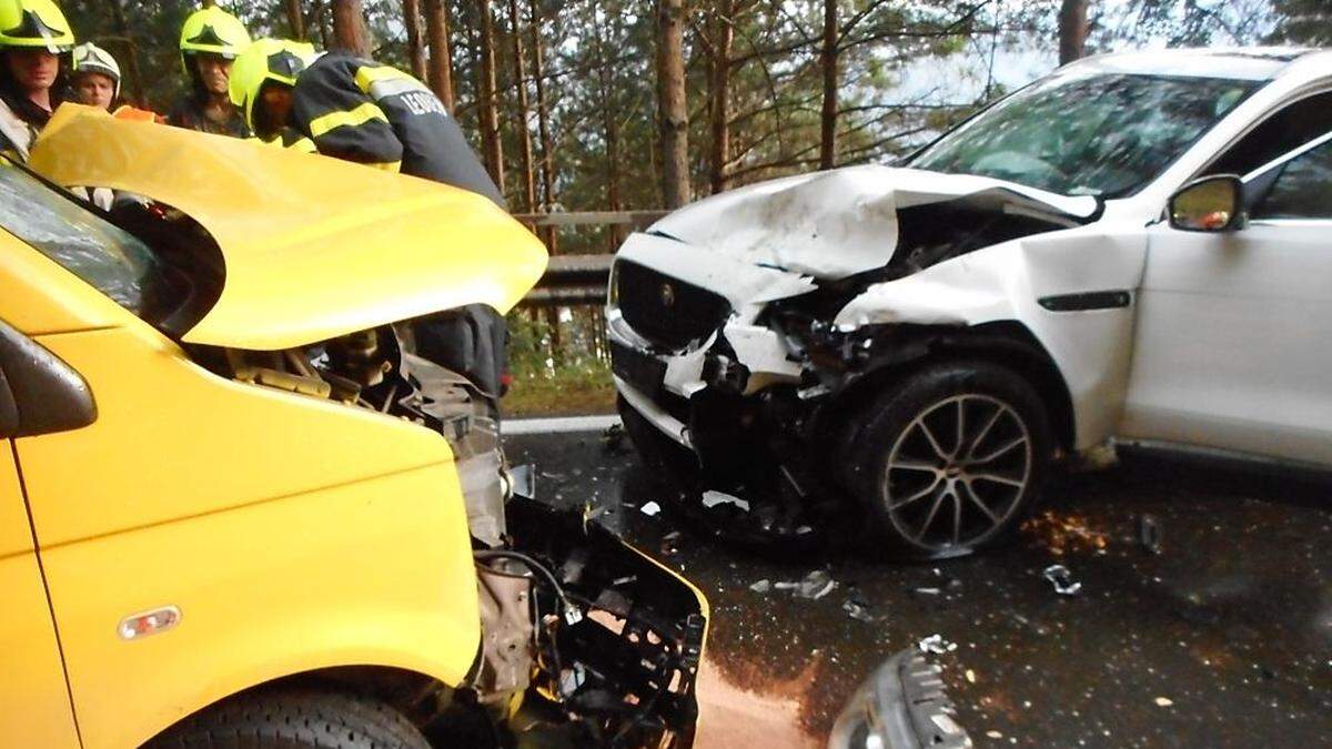
[[[224,380],[133,319],[37,340],[97,402],[15,442],[85,746],[313,668],[464,677],[480,617],[442,437]],[[119,636],[170,605],[176,628]]]

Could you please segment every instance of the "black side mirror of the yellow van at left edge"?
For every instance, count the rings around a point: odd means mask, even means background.
[[[96,420],[88,382],[41,344],[0,323],[0,438],[68,432]]]

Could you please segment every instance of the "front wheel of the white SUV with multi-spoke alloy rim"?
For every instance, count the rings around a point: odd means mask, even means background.
[[[939,361],[907,373],[859,426],[846,454],[847,484],[892,552],[912,558],[963,556],[1010,537],[1052,454],[1040,396],[988,361]]]

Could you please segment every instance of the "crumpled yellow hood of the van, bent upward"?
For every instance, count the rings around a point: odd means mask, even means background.
[[[31,167],[144,195],[222,249],[221,299],[184,340],[281,349],[466,304],[511,309],[546,251],[493,203],[438,183],[67,104]]]

